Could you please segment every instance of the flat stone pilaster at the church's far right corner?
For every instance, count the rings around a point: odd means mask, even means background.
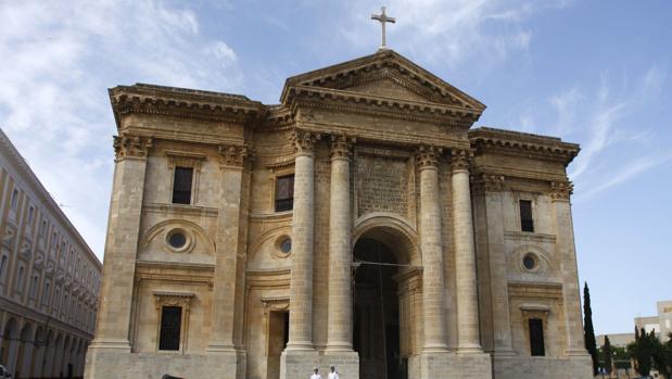
[[[565,311],[566,355],[586,355],[583,342],[583,323],[581,319],[581,300],[579,289],[579,270],[574,248],[574,227],[569,198],[572,193],[571,182],[551,182],[550,199],[555,215],[556,253],[560,261],[562,275],[562,306]]]

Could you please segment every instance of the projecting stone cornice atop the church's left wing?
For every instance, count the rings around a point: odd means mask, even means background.
[[[266,113],[258,101],[240,94],[136,84],[109,90],[117,129],[121,116],[144,113],[244,124]]]

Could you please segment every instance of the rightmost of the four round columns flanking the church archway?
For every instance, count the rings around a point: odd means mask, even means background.
[[[479,337],[476,249],[467,151],[453,151],[453,228],[457,283],[457,349],[458,353],[480,353],[482,349]]]

